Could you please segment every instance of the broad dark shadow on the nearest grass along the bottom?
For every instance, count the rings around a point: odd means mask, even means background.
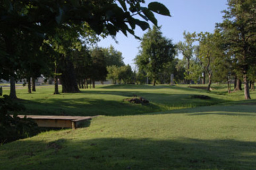
[[[47,143],[24,140],[0,147],[0,166],[3,169],[254,170],[255,146],[256,142],[187,138],[58,139]]]

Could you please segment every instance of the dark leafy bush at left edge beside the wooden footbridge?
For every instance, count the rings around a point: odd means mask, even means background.
[[[11,100],[9,96],[0,98],[0,144],[37,133],[37,123],[27,117],[18,117],[17,112],[22,110],[25,110],[25,107]],[[8,112],[12,112],[13,116]]]

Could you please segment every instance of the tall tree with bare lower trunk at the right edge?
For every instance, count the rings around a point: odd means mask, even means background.
[[[228,40],[228,49],[237,60],[243,74],[244,97],[251,99],[249,92],[248,70],[256,60],[256,20],[254,0],[228,0],[228,9],[224,12],[224,21],[218,24]]]

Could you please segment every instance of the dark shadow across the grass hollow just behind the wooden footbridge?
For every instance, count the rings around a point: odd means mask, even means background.
[[[124,101],[106,101],[99,99],[47,99],[44,101],[22,100],[27,111],[20,114],[37,115],[135,115],[148,112],[159,112],[161,108],[156,104],[132,104]]]

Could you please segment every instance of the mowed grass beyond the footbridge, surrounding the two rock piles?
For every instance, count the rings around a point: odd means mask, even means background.
[[[29,94],[26,87],[19,87],[17,96],[27,108],[27,111],[22,114],[137,115],[243,100],[242,92],[234,95],[219,95],[205,90],[168,85],[98,86],[95,89],[81,90],[81,93],[62,93],[61,95],[53,95],[53,91],[53,86],[38,86],[37,92]],[[9,93],[7,88],[4,89],[4,93]],[[150,103],[138,105],[124,101],[133,95],[144,97]],[[193,95],[207,95],[211,99],[193,99]]]

